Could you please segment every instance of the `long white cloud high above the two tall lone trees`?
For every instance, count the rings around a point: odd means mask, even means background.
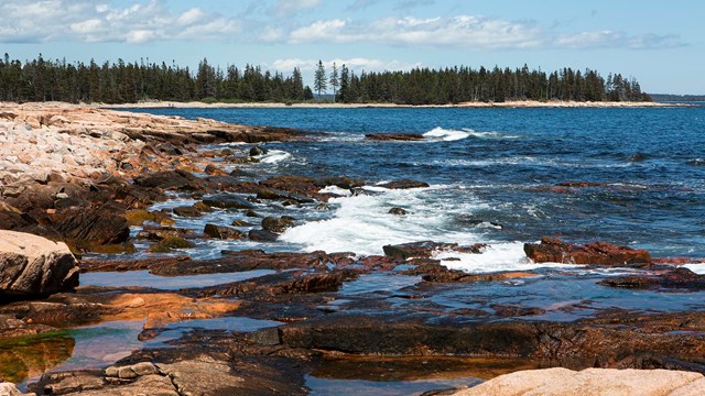
[[[290,43],[368,42],[390,45],[465,48],[531,48],[541,45],[542,30],[528,22],[482,16],[387,18],[367,25],[339,19],[315,21],[290,33]]]

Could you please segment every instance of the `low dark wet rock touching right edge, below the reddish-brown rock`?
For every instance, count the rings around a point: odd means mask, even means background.
[[[705,289],[705,275],[697,275],[688,268],[675,268],[657,275],[628,275],[609,277],[598,285],[634,289]]]

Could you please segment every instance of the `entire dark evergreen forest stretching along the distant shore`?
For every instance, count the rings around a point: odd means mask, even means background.
[[[246,65],[225,69],[203,59],[197,69],[174,63],[67,63],[65,59],[0,59],[0,100],[133,103],[145,100],[204,102],[303,102],[447,105],[471,101],[650,101],[634,78],[563,68],[546,74],[522,68],[462,66],[409,72],[361,72],[346,65],[326,70],[318,62],[313,90],[299,68],[291,75]],[[330,87],[333,96],[324,96]],[[330,99],[328,99],[330,98]]]

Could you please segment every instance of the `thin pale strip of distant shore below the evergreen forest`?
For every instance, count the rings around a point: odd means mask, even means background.
[[[176,102],[176,101],[141,101],[138,103],[121,105],[93,105],[96,107],[126,109],[159,109],[159,108],[176,108],[176,109],[226,109],[226,108],[330,108],[330,109],[355,109],[355,108],[654,108],[654,107],[687,107],[691,105],[683,103],[663,103],[663,102],[633,102],[633,101],[538,101],[538,100],[514,100],[505,102],[464,102],[457,105],[395,105],[395,103],[327,103],[327,102],[306,102],[306,103],[274,103],[274,102],[248,102],[248,103],[204,103],[199,101]]]

